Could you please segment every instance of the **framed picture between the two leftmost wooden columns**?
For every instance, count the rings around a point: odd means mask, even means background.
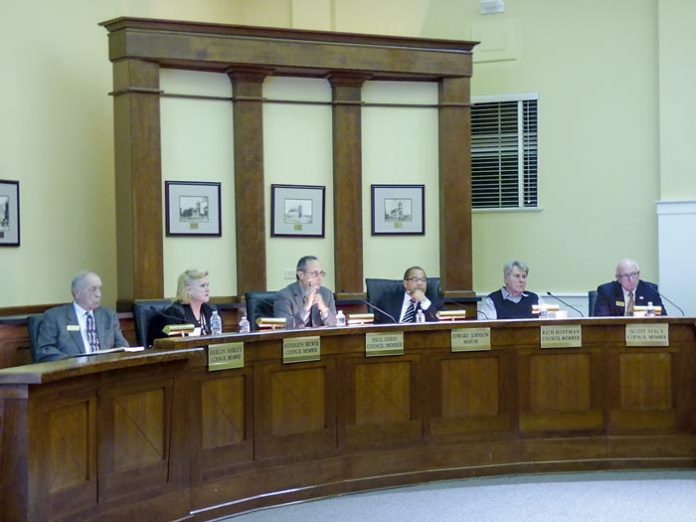
[[[168,236],[221,236],[220,183],[165,181]]]

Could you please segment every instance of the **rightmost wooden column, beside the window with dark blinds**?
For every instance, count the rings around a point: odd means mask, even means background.
[[[440,278],[449,298],[474,295],[469,88],[467,77],[440,80]]]

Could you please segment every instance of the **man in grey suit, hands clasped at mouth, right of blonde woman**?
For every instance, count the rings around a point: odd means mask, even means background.
[[[278,292],[273,301],[273,316],[285,318],[286,328],[336,326],[333,292],[321,286],[325,275],[316,256],[301,257],[297,280]]]

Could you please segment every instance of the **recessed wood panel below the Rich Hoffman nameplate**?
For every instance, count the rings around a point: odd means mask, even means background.
[[[531,412],[590,409],[590,356],[537,355],[530,361]]]

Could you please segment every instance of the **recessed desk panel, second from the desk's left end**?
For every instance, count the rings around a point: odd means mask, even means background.
[[[116,471],[153,464],[164,454],[163,389],[114,398],[114,463]]]

